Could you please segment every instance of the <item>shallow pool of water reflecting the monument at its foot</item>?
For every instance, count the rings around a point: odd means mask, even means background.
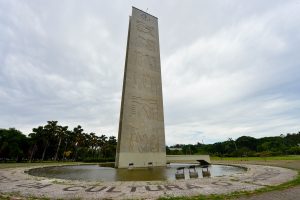
[[[28,171],[34,176],[43,176],[50,178],[61,178],[69,180],[85,181],[155,181],[155,180],[175,180],[175,173],[178,167],[188,168],[192,164],[175,164],[171,163],[169,167],[150,167],[150,168],[133,168],[133,169],[115,169],[108,166],[98,165],[74,165],[60,167],[36,168]],[[235,173],[242,173],[244,168],[211,165],[209,168],[211,176],[223,176]],[[195,165],[195,170],[202,178],[202,168]],[[189,179],[189,170],[185,170],[185,178]]]

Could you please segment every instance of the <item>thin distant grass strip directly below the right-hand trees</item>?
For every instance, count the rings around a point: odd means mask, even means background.
[[[270,156],[270,157],[210,157],[212,161],[240,161],[249,160],[249,161],[262,161],[262,160],[300,160],[300,155],[287,155],[287,156]]]

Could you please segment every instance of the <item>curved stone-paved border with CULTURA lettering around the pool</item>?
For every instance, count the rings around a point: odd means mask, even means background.
[[[24,196],[63,199],[156,199],[160,196],[225,194],[278,185],[296,177],[297,172],[271,166],[239,165],[247,172],[223,177],[177,181],[85,182],[34,177],[29,168],[0,170],[0,192],[20,192]]]

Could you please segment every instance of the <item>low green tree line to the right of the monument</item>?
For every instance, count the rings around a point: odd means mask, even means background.
[[[300,132],[256,139],[242,136],[214,144],[176,144],[167,154],[209,154],[220,157],[300,155]]]

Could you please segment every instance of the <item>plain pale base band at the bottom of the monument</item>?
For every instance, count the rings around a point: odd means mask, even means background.
[[[166,153],[117,153],[116,168],[166,166]]]

